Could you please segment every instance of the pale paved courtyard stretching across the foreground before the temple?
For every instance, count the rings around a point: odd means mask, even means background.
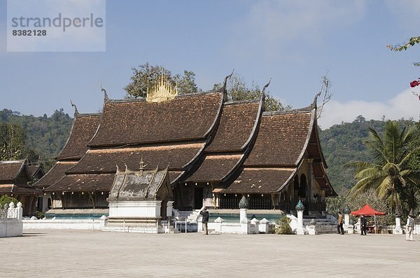
[[[416,237],[25,230],[0,277],[419,277]]]

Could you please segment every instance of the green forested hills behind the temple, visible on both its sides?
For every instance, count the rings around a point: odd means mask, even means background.
[[[412,121],[399,121],[401,126],[413,125]],[[20,154],[21,159],[27,157],[29,161],[36,162],[38,156],[42,157],[46,170],[54,163],[54,157],[59,154],[69,137],[73,119],[62,109],[48,117],[34,117],[20,115],[20,112],[3,109],[0,110],[0,124],[18,124],[24,131],[26,147]],[[349,161],[369,161],[370,153],[365,147],[369,127],[379,134],[384,130],[385,121],[366,121],[358,116],[351,123],[337,124],[330,129],[320,130],[320,139],[323,154],[328,165],[328,177],[335,191],[345,194],[353,186],[355,180],[351,170],[344,168]],[[4,140],[0,129],[0,142]],[[0,146],[1,147],[1,146]],[[49,161],[49,162],[47,162]]]

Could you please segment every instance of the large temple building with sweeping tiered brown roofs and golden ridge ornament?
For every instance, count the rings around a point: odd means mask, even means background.
[[[106,209],[118,169],[166,169],[165,202],[180,211],[237,209],[242,196],[255,210],[290,212],[302,200],[308,211],[325,211],[325,198],[337,194],[325,173],[316,98],[307,108],[266,112],[265,88],[258,99],[228,101],[226,80],[195,94],[178,94],[164,78],[146,98],[112,100],[104,91],[101,114],[75,110],[69,140],[36,188],[55,209]]]

